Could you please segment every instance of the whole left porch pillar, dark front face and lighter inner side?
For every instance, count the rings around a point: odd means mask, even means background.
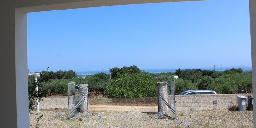
[[[26,13],[1,0],[0,19],[0,127],[29,128]]]

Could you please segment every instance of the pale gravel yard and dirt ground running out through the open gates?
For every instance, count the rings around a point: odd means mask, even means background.
[[[38,125],[39,115],[32,111],[31,128],[186,128],[186,123],[190,128],[253,128],[253,111],[177,111],[176,119],[170,119],[155,115],[157,105],[113,104],[111,99],[104,97],[90,98],[89,111],[91,118],[81,116],[67,120],[67,110],[44,110]],[[57,114],[64,114],[64,117],[56,118]],[[177,124],[177,121],[183,123]]]

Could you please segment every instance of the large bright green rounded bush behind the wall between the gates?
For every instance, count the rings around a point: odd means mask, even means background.
[[[157,83],[146,72],[119,74],[106,85],[105,96],[108,98],[156,97]]]

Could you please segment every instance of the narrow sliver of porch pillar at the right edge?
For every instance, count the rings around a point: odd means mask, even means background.
[[[253,71],[253,92],[256,93],[256,0],[249,0],[250,8],[250,27],[251,27],[251,52],[252,52],[252,71]],[[256,98],[253,98],[256,103]],[[256,110],[256,105],[253,106]],[[253,124],[256,126],[256,113],[253,112]]]

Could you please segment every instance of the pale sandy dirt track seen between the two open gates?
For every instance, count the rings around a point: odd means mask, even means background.
[[[114,112],[156,112],[157,106],[121,106],[106,104],[90,104],[90,111],[114,111]]]

